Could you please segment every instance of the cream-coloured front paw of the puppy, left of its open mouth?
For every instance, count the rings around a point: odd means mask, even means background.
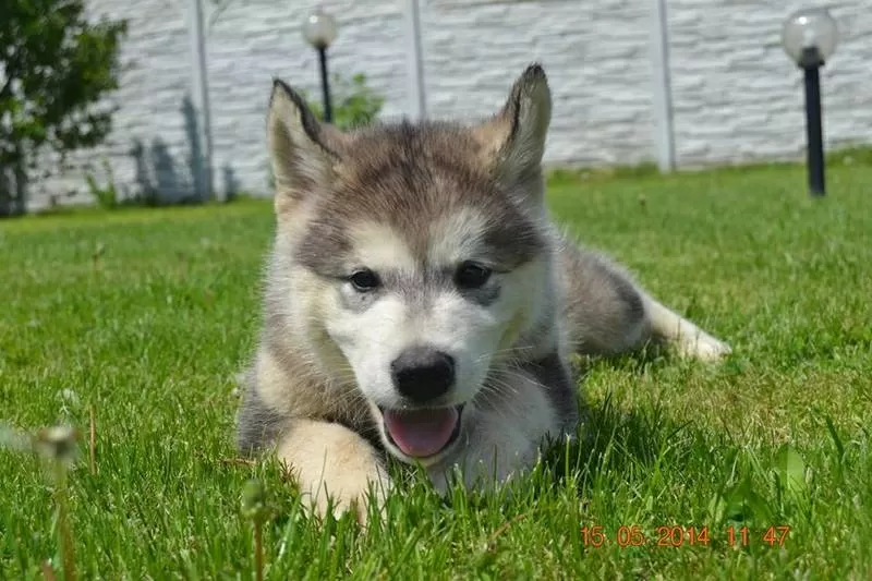
[[[340,424],[295,420],[279,439],[278,456],[320,516],[331,497],[335,516],[355,507],[365,523],[370,488],[379,507],[391,488],[370,443]]]

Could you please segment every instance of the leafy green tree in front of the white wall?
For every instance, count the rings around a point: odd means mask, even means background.
[[[90,22],[84,0],[2,0],[0,216],[25,210],[38,156],[94,147],[109,134],[126,21]]]

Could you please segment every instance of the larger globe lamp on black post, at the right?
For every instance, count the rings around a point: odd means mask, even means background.
[[[824,138],[821,119],[821,66],[833,56],[838,41],[836,21],[826,9],[800,10],[784,23],[782,45],[806,75],[806,134],[811,195],[826,195]]]

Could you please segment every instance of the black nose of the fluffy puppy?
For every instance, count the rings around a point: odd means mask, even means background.
[[[431,401],[455,385],[455,360],[431,347],[407,349],[390,364],[393,386],[413,401]]]

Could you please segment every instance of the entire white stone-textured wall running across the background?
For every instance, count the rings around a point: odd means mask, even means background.
[[[205,1],[205,0],[204,0]],[[513,78],[542,61],[554,90],[547,161],[630,165],[655,153],[651,19],[654,0],[420,0],[426,104],[432,117],[489,114]],[[402,0],[327,0],[340,24],[331,72],[365,73],[387,98],[383,117],[408,102]],[[780,48],[784,0],[668,0],[674,131],[679,167],[796,158],[804,146],[801,74]],[[106,183],[102,160],[125,195],[147,189],[196,197],[199,158],[191,98],[189,7],[182,0],[89,0],[95,15],[130,20],[125,72],[106,146],[35,184],[33,205],[87,199],[83,166]],[[268,195],[266,105],[280,76],[319,97],[314,51],[300,25],[313,1],[206,3],[214,182],[219,193]],[[872,10],[832,9],[841,43],[823,74],[828,144],[872,143]],[[47,164],[53,162],[47,160]]]

